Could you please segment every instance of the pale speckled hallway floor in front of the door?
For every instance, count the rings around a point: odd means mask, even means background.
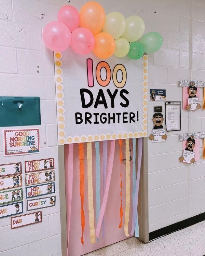
[[[148,244],[136,238],[109,245],[86,256],[203,256],[205,221],[181,229]]]

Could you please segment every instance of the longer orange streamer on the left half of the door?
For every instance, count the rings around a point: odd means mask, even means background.
[[[80,199],[81,199],[81,228],[82,236],[81,243],[84,245],[83,233],[85,228],[85,214],[84,214],[84,192],[85,192],[85,167],[84,167],[84,152],[83,152],[83,143],[79,143],[79,160],[80,160]]]

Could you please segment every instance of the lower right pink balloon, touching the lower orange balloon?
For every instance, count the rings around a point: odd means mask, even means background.
[[[71,48],[78,54],[88,54],[93,51],[95,38],[87,28],[77,28],[71,34]]]

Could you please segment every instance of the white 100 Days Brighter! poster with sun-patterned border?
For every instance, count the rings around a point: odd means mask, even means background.
[[[54,56],[60,145],[147,136],[147,55],[137,62],[70,49]]]

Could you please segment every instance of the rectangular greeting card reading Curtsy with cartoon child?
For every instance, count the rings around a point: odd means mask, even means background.
[[[55,206],[55,202],[56,202],[55,196],[27,200],[27,203],[26,203],[27,211]]]

